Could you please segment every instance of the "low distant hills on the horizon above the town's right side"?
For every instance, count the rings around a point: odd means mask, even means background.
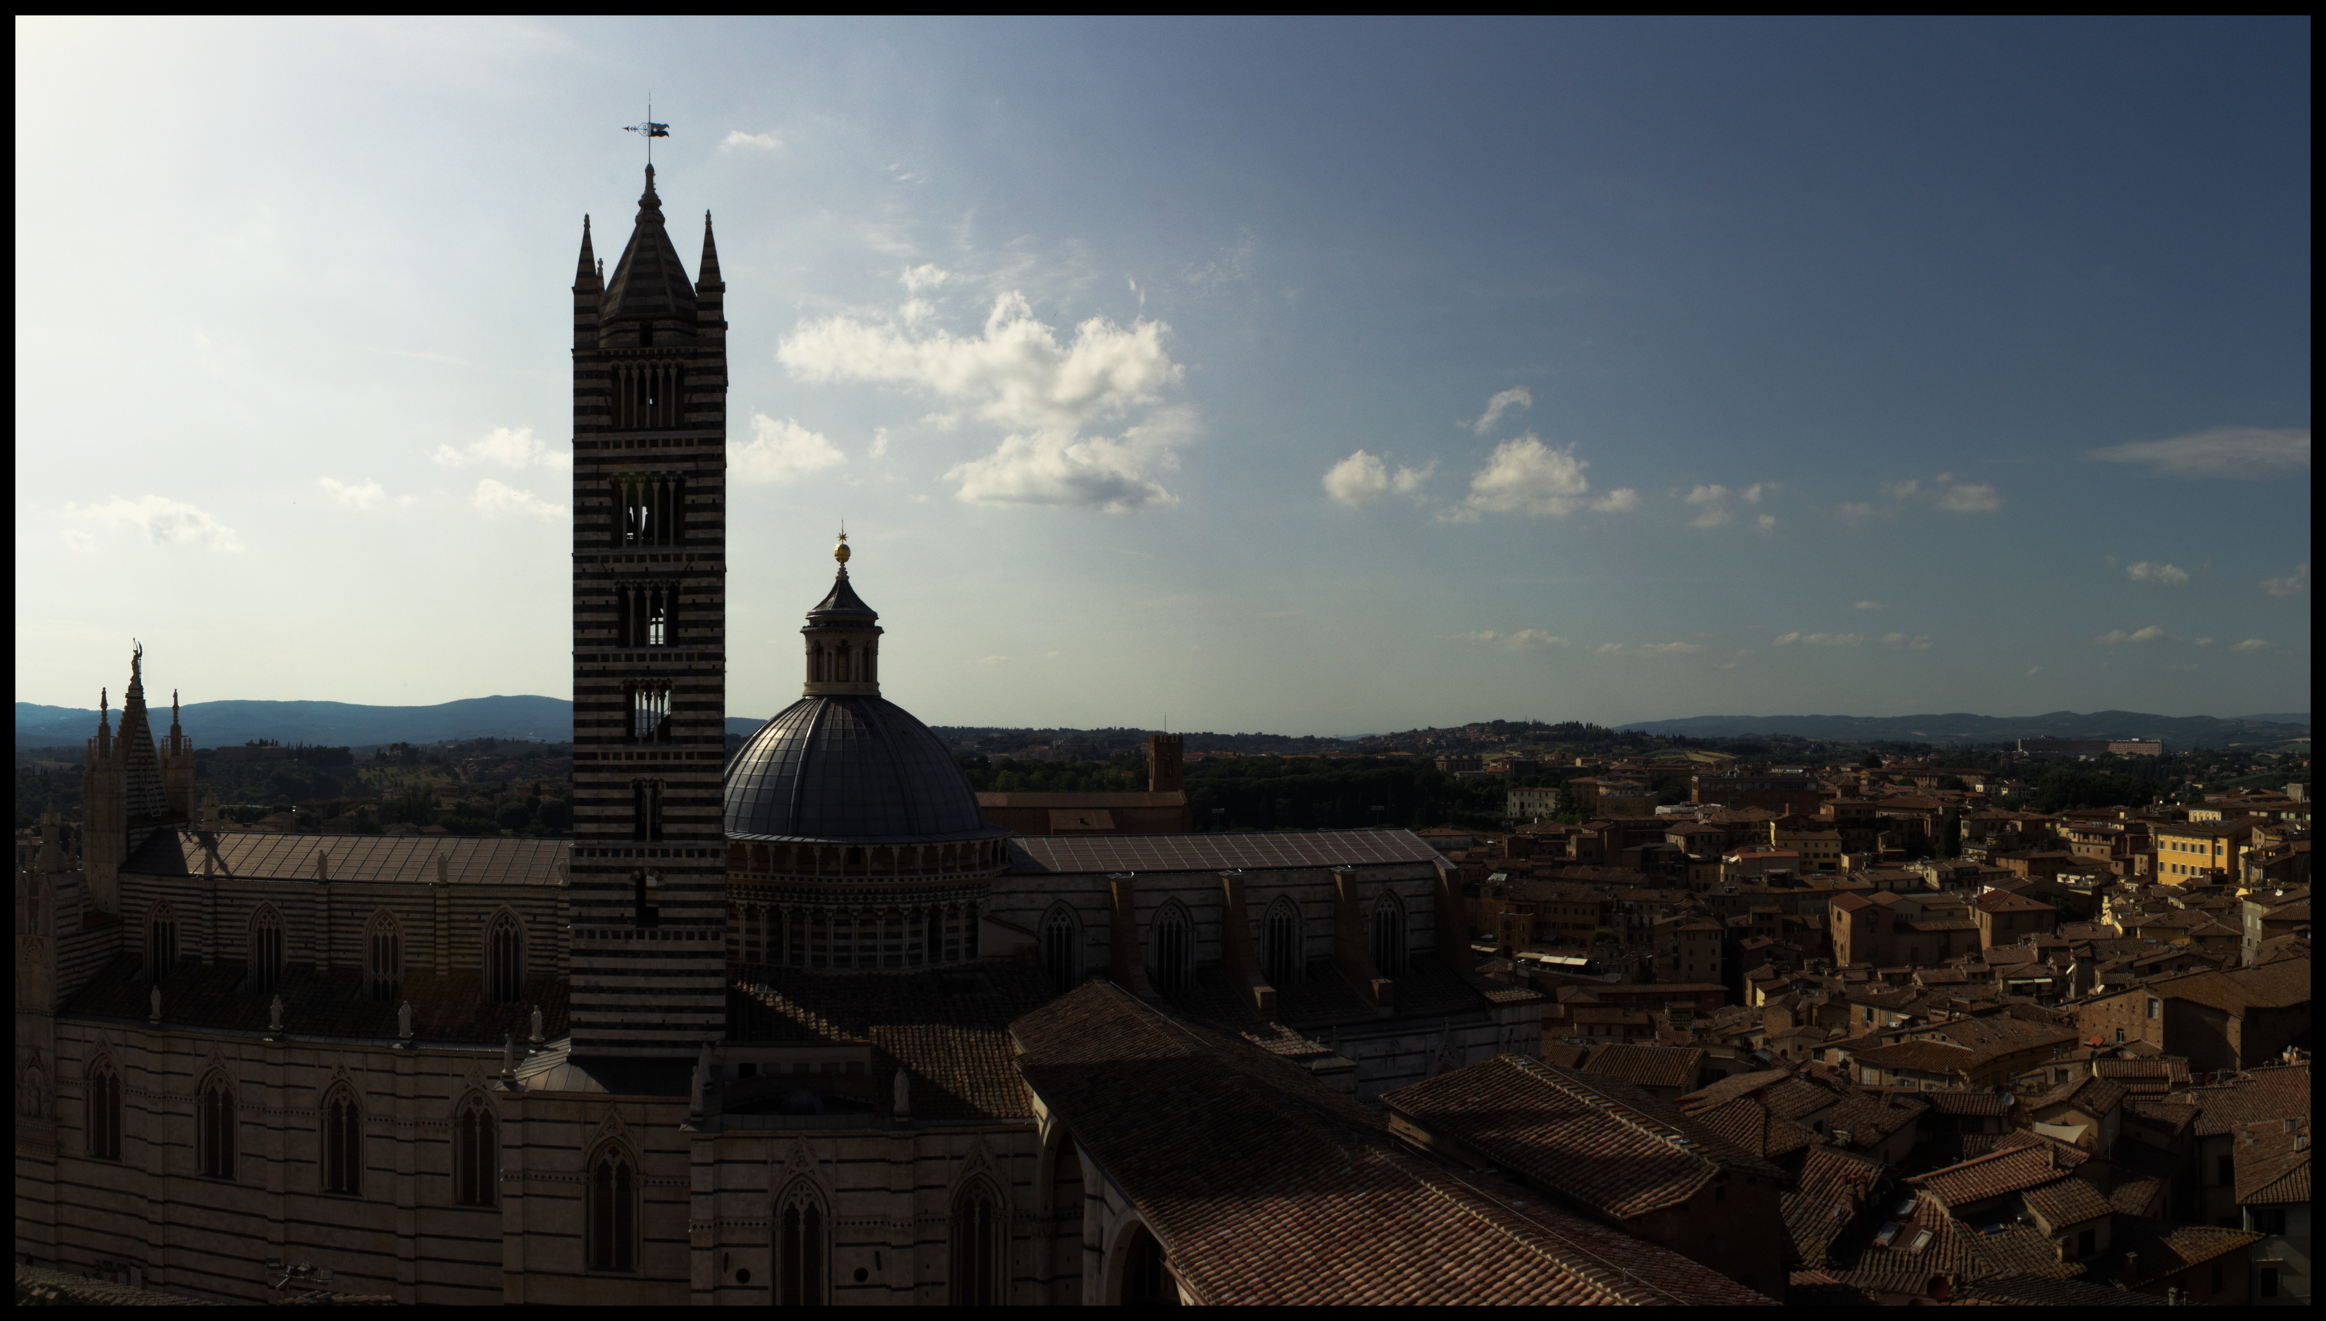
[[[1740,737],[1793,735],[1805,740],[1996,744],[2033,737],[2161,740],[2168,749],[2279,742],[2310,735],[2310,714],[2279,716],[2147,716],[2140,712],[2049,712],[2042,716],[1686,716],[1617,726],[1651,735]]]

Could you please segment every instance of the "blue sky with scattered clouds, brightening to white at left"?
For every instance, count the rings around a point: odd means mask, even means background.
[[[16,23],[16,695],[568,695],[568,284],[728,281],[728,712],[2310,707],[2303,21]]]

